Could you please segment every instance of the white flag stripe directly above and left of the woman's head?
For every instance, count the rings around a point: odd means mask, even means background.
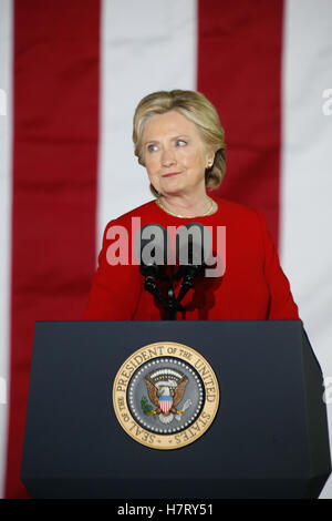
[[[133,115],[151,92],[196,89],[196,0],[102,2],[97,249],[111,218],[153,198]]]

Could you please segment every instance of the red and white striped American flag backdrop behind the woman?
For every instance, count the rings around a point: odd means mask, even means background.
[[[264,214],[332,387],[332,2],[0,0],[4,498],[29,497],[20,464],[34,323],[80,319],[105,224],[152,198],[133,114],[172,89],[217,108],[220,195]],[[328,415],[331,426],[332,403]]]

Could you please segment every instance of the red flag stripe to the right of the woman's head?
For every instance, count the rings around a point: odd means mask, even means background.
[[[260,208],[277,243],[282,0],[198,1],[197,89],[226,131],[219,194]]]

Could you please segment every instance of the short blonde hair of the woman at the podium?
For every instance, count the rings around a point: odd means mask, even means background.
[[[204,94],[196,91],[158,91],[139,101],[134,114],[133,141],[138,163],[145,166],[143,152],[143,132],[147,121],[156,114],[175,110],[196,124],[203,141],[215,151],[215,161],[205,171],[205,184],[209,188],[220,186],[226,170],[225,132],[218,113]],[[153,185],[151,191],[158,195]]]

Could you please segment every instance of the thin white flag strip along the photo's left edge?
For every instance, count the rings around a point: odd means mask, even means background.
[[[2,94],[6,93],[1,96],[2,101],[6,100],[6,108],[3,104],[0,108],[0,498],[4,492],[9,408],[12,38],[12,2],[2,0],[0,4],[0,89]]]

